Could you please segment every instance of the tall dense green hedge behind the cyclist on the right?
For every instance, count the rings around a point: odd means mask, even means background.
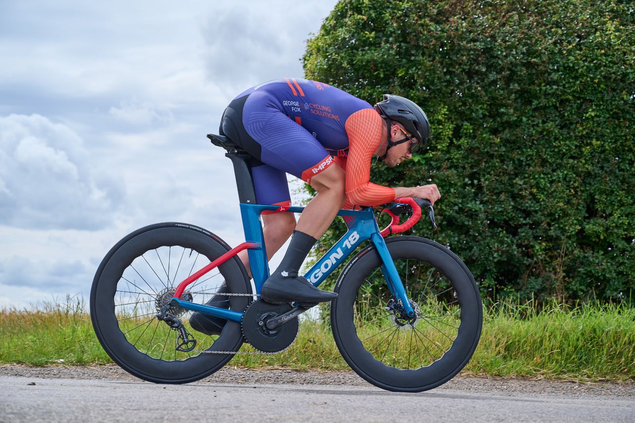
[[[632,1],[340,1],[304,68],[428,113],[429,149],[371,179],[439,186],[439,231],[415,232],[462,257],[484,295],[635,294]]]

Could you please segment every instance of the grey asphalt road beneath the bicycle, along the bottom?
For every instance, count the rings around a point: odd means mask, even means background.
[[[90,368],[86,369],[80,376],[90,374]],[[615,389],[612,385],[580,389],[579,384],[565,382],[540,389],[540,382],[528,381],[528,389],[523,389],[522,380],[493,380],[490,384],[486,379],[462,378],[450,388],[410,394],[382,391],[365,382],[347,384],[345,378],[342,385],[277,384],[276,371],[269,375],[253,372],[257,374],[254,379],[272,383],[250,384],[250,371],[240,372],[239,384],[208,378],[175,386],[119,373],[58,379],[57,374],[41,377],[0,368],[0,421],[635,421],[633,389],[617,385]],[[11,375],[17,373],[23,375]],[[304,377],[298,379],[311,376],[301,374]]]

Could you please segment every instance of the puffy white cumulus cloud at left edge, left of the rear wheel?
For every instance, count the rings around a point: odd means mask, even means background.
[[[0,181],[0,223],[32,229],[104,227],[124,197],[74,131],[39,115],[0,117]]]

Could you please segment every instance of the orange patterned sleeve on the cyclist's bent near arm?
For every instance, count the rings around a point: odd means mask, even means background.
[[[346,119],[349,155],[346,169],[346,202],[378,206],[395,199],[395,190],[370,182],[373,153],[382,142],[383,121],[373,109],[363,109]]]

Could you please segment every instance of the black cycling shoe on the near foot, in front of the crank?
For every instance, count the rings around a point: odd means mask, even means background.
[[[297,272],[284,271],[272,274],[265,281],[260,290],[260,298],[271,304],[298,302],[311,307],[318,302],[336,299],[337,293],[316,288],[306,278],[298,276]]]

